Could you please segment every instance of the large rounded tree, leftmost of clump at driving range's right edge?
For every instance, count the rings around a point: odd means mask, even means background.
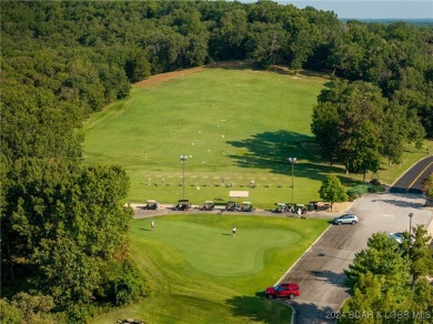
[[[335,158],[348,172],[364,178],[367,171],[376,172],[386,103],[380,89],[371,83],[336,81],[323,90],[311,126],[323,158]]]

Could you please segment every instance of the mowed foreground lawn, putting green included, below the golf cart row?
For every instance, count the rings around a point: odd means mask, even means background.
[[[291,310],[263,298],[311,243],[325,220],[168,215],[133,220],[132,256],[150,274],[152,296],[94,323],[289,323]],[[235,225],[238,234],[231,236]],[[302,288],[302,287],[301,287]]]

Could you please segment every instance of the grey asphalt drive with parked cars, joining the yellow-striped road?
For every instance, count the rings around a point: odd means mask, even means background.
[[[422,179],[433,171],[432,163],[433,156],[429,156],[407,171],[389,192],[358,200],[350,212],[354,212],[360,222],[330,225],[280,280],[301,286],[301,296],[286,301],[295,310],[294,323],[335,323],[336,312],[350,296],[343,270],[353,262],[356,252],[366,247],[373,233],[409,230],[409,213],[413,213],[412,226],[429,226],[433,211],[424,207],[425,198],[420,189]]]

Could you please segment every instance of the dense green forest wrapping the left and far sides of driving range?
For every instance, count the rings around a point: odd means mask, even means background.
[[[81,322],[148,293],[128,257],[128,176],[83,165],[77,132],[132,82],[223,60],[310,69],[349,80],[321,94],[318,118],[343,92],[386,101],[363,125],[396,135],[374,153],[397,162],[392,140],[433,136],[432,26],[271,1],[2,1],[1,42],[1,306],[17,322]],[[375,168],[322,149],[356,172]]]

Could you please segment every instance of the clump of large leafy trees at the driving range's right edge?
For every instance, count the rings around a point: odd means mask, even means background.
[[[400,163],[407,142],[422,146],[425,131],[399,91],[391,99],[365,81],[334,81],[313,108],[311,131],[323,159],[346,172],[377,172],[382,156]],[[432,115],[433,117],[433,115]]]

